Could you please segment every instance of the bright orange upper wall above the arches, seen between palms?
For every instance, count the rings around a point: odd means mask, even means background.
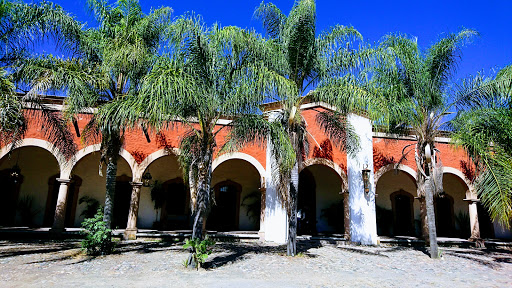
[[[302,111],[302,115],[307,122],[307,129],[316,140],[315,142],[315,140],[311,136],[308,136],[310,151],[307,158],[327,158],[333,161],[338,166],[340,166],[346,172],[346,153],[344,151],[340,151],[340,149],[338,149],[337,147],[332,147],[331,141],[322,132],[322,129],[317,124],[316,114],[317,111],[321,111],[322,109],[323,108],[321,107],[316,107],[315,109],[305,109]],[[32,118],[34,117],[34,115],[30,114],[28,114],[27,116]],[[91,115],[88,114],[82,114],[78,117],[78,126],[80,127],[81,132],[83,131],[90,117]],[[217,129],[220,127],[222,126],[218,125]],[[74,135],[75,143],[77,143],[79,149],[84,148],[85,145],[81,143],[79,138],[76,137],[74,129],[71,125],[70,128],[73,131],[72,134]],[[173,129],[169,128],[158,134],[156,134],[154,131],[150,131],[151,143],[147,143],[146,137],[144,136],[142,130],[133,129],[127,131],[125,135],[124,149],[127,150],[130,154],[132,154],[135,160],[140,163],[142,162],[142,160],[144,160],[144,158],[146,158],[153,152],[156,152],[163,148],[177,148],[179,146],[179,141],[181,137],[184,135],[186,131],[187,127],[180,123],[177,123]],[[225,128],[219,133],[217,139],[218,147],[222,147],[222,144],[225,141],[225,136],[227,135],[228,132],[229,129]],[[26,138],[45,139],[41,131],[40,122],[30,121]],[[322,149],[319,149],[317,142],[322,146]],[[414,141],[374,137],[373,147],[375,171],[377,171],[379,168],[387,164],[396,163],[396,161],[398,161],[402,156],[402,149],[407,144],[412,143],[414,143]],[[261,143],[259,145],[249,145],[240,152],[251,155],[256,160],[258,160],[263,167],[266,167],[265,146],[265,143]],[[462,149],[454,148],[452,145],[446,143],[439,143],[437,144],[436,147],[441,151],[440,155],[444,166],[453,167],[464,172],[464,169],[462,168],[462,162],[469,162],[469,160],[466,153]],[[215,153],[215,156],[217,157],[218,153]],[[407,155],[407,159],[403,162],[403,164],[410,166],[412,169],[416,170],[416,166],[414,164],[414,150],[412,150]]]

